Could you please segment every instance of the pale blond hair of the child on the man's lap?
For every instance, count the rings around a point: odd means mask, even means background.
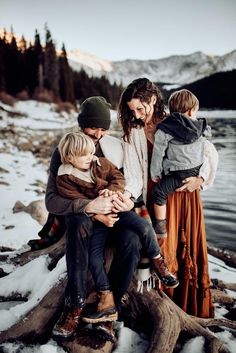
[[[81,157],[95,152],[93,140],[82,132],[68,132],[58,145],[62,163],[70,163],[70,157]]]

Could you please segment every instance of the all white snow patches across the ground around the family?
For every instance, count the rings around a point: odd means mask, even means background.
[[[1,104],[1,103],[0,103]],[[14,124],[19,129],[54,130],[75,126],[76,115],[55,113],[55,107],[46,103],[34,101],[18,102],[14,108],[1,104],[7,110],[21,112],[23,117],[9,118],[1,111],[0,128]],[[234,113],[235,116],[235,113]],[[115,114],[113,112],[113,119]],[[31,201],[42,199],[43,185],[47,181],[47,168],[39,163],[29,151],[19,151],[9,146],[9,141],[0,141],[0,247],[13,249],[12,255],[17,253],[29,239],[37,238],[41,229],[29,214],[25,212],[13,214],[12,208],[17,200],[25,205]],[[35,186],[37,185],[37,186]],[[42,186],[40,186],[42,185]],[[40,192],[39,192],[40,191]],[[30,268],[29,268],[30,266]],[[12,272],[8,264],[0,264],[5,272]],[[223,279],[226,282],[236,282],[236,270],[224,264],[223,261],[209,256],[210,276]],[[66,275],[65,259],[61,259],[58,266],[52,270],[47,269],[47,257],[35,259],[30,264],[22,266],[5,278],[0,278],[0,296],[19,293],[28,298],[26,302],[0,303],[0,330],[4,330],[17,322],[21,316],[32,309],[43,298],[48,290]],[[37,281],[35,281],[37,278]],[[43,285],[42,285],[43,283]],[[235,293],[231,292],[235,296]],[[222,317],[227,312],[225,308],[216,309],[216,317]],[[220,339],[225,341],[231,353],[236,353],[236,339],[229,331],[218,333]],[[115,353],[143,353],[147,350],[148,340],[127,327],[121,325],[118,333],[118,345]],[[181,353],[203,353],[204,339],[197,337],[185,344]],[[6,353],[14,353],[21,348],[22,353],[62,353],[64,350],[50,340],[44,345],[24,347],[22,344],[4,344]]]

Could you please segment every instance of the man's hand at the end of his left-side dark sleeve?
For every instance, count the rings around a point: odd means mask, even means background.
[[[93,214],[108,214],[112,212],[114,208],[113,200],[114,196],[104,197],[98,196],[96,199],[92,200],[87,204],[84,211],[86,213],[93,213]]]

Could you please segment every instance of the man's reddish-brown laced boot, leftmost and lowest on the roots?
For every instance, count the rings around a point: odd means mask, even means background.
[[[73,337],[80,322],[81,312],[82,308],[65,306],[63,313],[53,328],[53,338],[59,340]]]

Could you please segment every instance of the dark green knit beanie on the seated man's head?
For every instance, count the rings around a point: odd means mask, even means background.
[[[85,99],[80,106],[78,115],[78,123],[81,129],[97,127],[108,130],[111,123],[110,107],[110,103],[101,96]]]

